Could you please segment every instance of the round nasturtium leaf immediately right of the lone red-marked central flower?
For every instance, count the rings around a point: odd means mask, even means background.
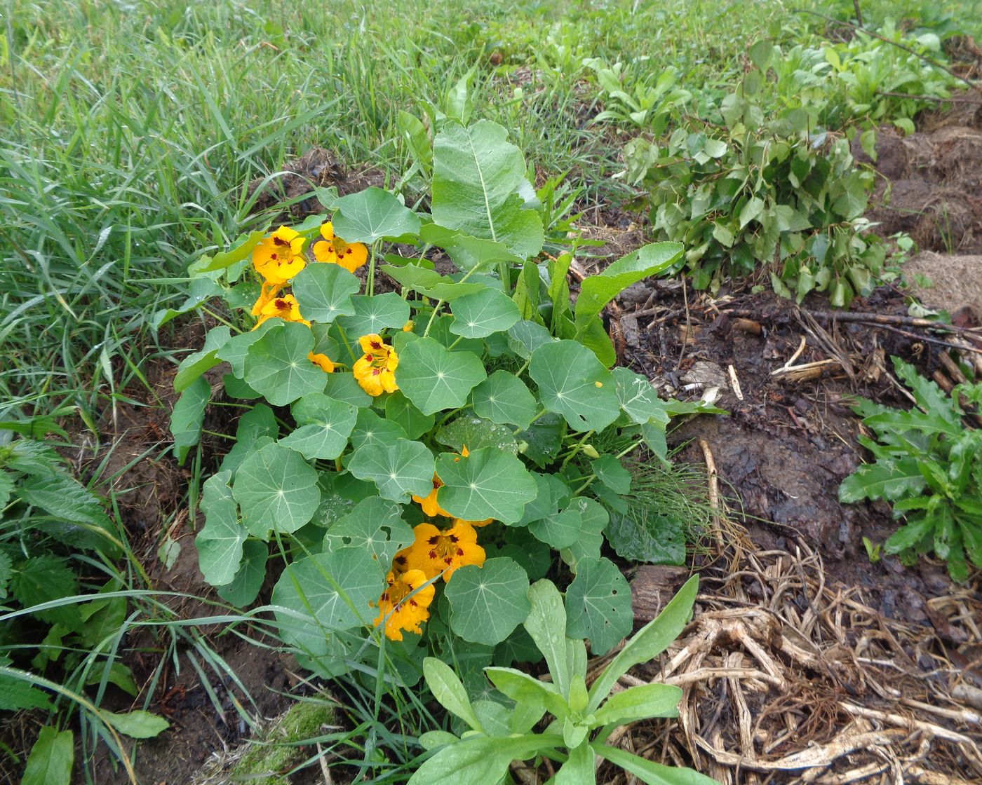
[[[450,351],[437,340],[413,340],[399,357],[396,383],[423,414],[463,406],[487,378],[484,364],[465,351]]]

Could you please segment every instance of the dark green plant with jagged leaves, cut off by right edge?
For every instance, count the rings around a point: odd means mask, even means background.
[[[982,429],[968,424],[961,401],[978,411],[982,384],[958,385],[949,395],[898,357],[894,367],[916,405],[903,411],[860,398],[852,410],[875,439],[859,443],[874,461],[846,477],[839,497],[889,501],[904,523],[884,552],[913,562],[933,550],[963,581],[966,555],[982,567]]]

